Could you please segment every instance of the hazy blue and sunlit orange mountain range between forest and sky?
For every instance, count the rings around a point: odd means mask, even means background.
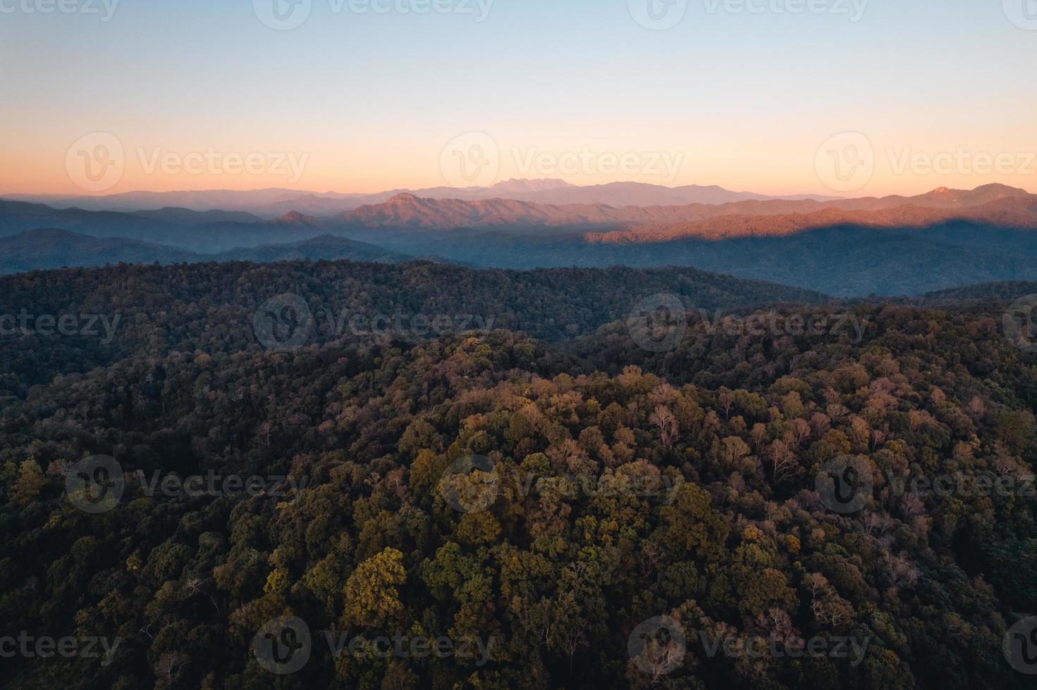
[[[530,194],[569,189],[551,181],[514,186]],[[20,235],[55,228],[78,236]],[[331,215],[291,210],[276,219],[241,210],[91,211],[0,200],[0,237],[10,235],[19,236],[9,249],[0,245],[0,270],[99,261],[427,256],[505,268],[694,266],[837,296],[1037,279],[1037,196],[1001,184],[915,197],[619,207],[399,193]],[[105,242],[91,245],[90,237]]]

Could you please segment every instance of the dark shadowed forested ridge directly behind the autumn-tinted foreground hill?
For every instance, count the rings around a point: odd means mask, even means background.
[[[0,315],[28,307],[30,315],[100,316],[91,329],[101,334],[54,338],[16,328],[5,337],[0,391],[24,390],[55,373],[131,354],[263,349],[254,334],[256,312],[285,294],[306,303],[312,327],[303,344],[315,345],[386,332],[421,338],[479,328],[558,341],[625,320],[639,300],[658,293],[678,295],[689,308],[727,311],[826,299],[694,268],[514,271],[431,262],[296,261],[33,271],[0,277]],[[440,322],[432,323],[437,317]],[[112,338],[105,337],[106,321]]]

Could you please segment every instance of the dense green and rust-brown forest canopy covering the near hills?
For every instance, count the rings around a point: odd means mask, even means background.
[[[0,335],[0,637],[82,652],[27,642],[0,684],[1025,687],[1037,354],[1004,315],[1033,292],[428,262],[0,278],[28,324]]]

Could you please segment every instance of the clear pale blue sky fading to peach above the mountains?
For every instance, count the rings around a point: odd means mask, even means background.
[[[1037,193],[1035,65],[1037,0],[0,0],[0,194]]]

